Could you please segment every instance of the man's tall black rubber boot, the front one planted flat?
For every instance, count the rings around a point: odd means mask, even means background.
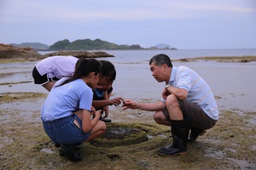
[[[189,121],[171,121],[172,144],[157,150],[160,156],[177,156],[187,153],[187,141],[189,137]]]

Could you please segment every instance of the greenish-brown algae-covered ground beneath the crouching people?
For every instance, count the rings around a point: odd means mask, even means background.
[[[9,101],[26,105],[45,98],[44,94],[26,93],[1,96],[0,106]],[[0,122],[0,169],[253,169],[256,165],[255,112],[221,111],[217,124],[188,144],[187,155],[174,157],[156,153],[172,143],[170,127],[154,122],[109,123],[108,127],[140,129],[151,138],[112,146],[85,142],[79,150],[83,160],[74,163],[59,156],[59,149],[44,133],[40,111],[32,111],[29,118],[17,114],[19,111],[3,108],[0,112],[1,117],[10,117]]]

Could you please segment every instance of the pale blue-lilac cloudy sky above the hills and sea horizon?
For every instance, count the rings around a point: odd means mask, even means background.
[[[0,0],[0,43],[256,48],[255,0]]]

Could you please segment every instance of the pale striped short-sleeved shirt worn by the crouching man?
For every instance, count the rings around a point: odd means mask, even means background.
[[[183,88],[189,91],[188,101],[199,105],[207,116],[218,120],[218,105],[211,88],[195,71],[186,66],[172,67],[169,84],[174,88]],[[161,99],[161,101],[166,101]]]

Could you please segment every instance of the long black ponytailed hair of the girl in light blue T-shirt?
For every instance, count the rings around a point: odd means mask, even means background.
[[[82,77],[87,77],[90,72],[95,72],[96,75],[102,73],[102,63],[96,59],[80,58],[75,65],[73,76],[64,82],[61,82],[61,84],[58,86],[62,86],[68,82],[73,82],[74,80]]]

